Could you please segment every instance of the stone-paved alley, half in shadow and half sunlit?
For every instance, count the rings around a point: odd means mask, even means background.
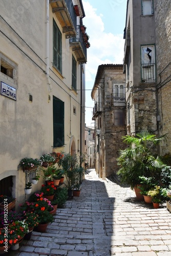
[[[171,214],[138,202],[134,191],[90,169],[81,195],[57,209],[46,233],[33,232],[16,256],[170,256]]]

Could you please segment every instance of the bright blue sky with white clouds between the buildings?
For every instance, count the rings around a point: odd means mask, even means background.
[[[94,126],[91,91],[99,65],[122,64],[127,0],[83,0],[82,19],[90,36],[86,63],[86,125]]]

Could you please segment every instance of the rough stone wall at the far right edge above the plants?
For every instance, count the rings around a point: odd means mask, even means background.
[[[161,154],[171,153],[171,2],[155,1],[159,135],[168,134]]]

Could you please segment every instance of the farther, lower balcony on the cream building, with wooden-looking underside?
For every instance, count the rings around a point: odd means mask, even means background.
[[[79,63],[86,63],[87,48],[83,40],[79,25],[77,25],[77,35],[70,38],[70,46],[72,46],[72,50],[75,51],[77,61],[79,61]]]

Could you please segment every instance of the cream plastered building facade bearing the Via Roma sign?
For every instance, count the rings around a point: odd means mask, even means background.
[[[20,159],[84,153],[85,13],[81,0],[3,0],[0,9],[0,195],[18,204]]]

